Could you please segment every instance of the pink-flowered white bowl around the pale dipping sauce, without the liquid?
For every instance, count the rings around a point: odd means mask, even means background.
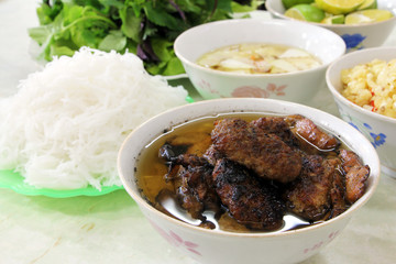
[[[300,47],[321,59],[320,67],[289,74],[248,75],[199,66],[197,59],[215,48],[241,43],[272,43]],[[345,52],[340,36],[302,22],[226,20],[182,33],[174,44],[190,81],[204,99],[261,97],[308,103],[324,86],[328,65]]]

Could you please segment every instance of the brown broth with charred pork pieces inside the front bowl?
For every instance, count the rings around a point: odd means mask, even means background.
[[[370,167],[302,116],[230,113],[166,131],[142,152],[136,178],[160,211],[232,232],[300,229],[365,193]]]

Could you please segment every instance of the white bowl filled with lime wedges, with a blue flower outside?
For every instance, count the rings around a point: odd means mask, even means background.
[[[339,34],[346,52],[384,44],[396,25],[394,0],[266,0],[273,18],[304,21]]]

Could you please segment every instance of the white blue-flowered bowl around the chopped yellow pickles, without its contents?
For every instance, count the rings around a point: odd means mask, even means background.
[[[375,146],[383,172],[396,178],[396,119],[371,112],[344,98],[341,70],[374,58],[396,58],[396,47],[372,47],[350,53],[332,64],[326,73],[328,88],[334,97],[342,119],[361,131]]]

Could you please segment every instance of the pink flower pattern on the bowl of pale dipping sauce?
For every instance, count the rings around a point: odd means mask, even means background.
[[[286,96],[284,89],[286,85],[276,86],[275,84],[268,84],[265,89],[257,86],[241,86],[235,88],[232,92],[232,97],[253,97],[253,98],[268,98],[271,95],[278,97]]]

